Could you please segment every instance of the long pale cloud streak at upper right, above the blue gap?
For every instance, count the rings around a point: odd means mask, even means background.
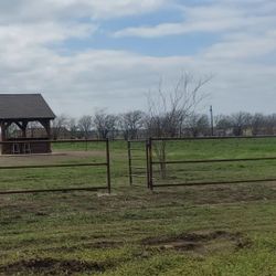
[[[250,8],[250,4],[244,7],[234,2],[230,4],[227,1],[219,1],[216,4],[192,8],[183,6],[181,10],[184,17],[183,21],[177,23],[164,22],[151,26],[125,28],[116,31],[114,36],[160,38],[192,32],[240,31],[241,29],[257,31],[276,24],[274,14],[276,2],[269,6],[262,4],[259,9],[258,6]]]

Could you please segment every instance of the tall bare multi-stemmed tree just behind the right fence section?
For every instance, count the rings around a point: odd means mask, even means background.
[[[176,137],[179,135],[182,123],[194,114],[205,94],[201,88],[211,79],[211,76],[195,79],[193,75],[183,73],[172,89],[164,89],[159,84],[156,96],[149,94],[149,114],[147,130],[150,137]],[[166,141],[153,145],[153,150],[160,161],[161,177],[166,178]]]

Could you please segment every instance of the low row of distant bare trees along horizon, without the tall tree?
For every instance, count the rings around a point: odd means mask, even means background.
[[[150,115],[142,110],[110,114],[98,110],[79,119],[57,116],[52,125],[54,139],[144,139],[148,137],[211,136],[209,114],[192,113]],[[264,115],[238,112],[214,116],[215,136],[257,136],[276,134],[276,114]]]

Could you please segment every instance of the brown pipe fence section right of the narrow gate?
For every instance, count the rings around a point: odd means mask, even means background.
[[[219,180],[219,181],[184,181],[184,182],[178,182],[178,183],[171,183],[169,179],[166,179],[162,181],[162,183],[158,182],[158,178],[155,174],[155,168],[159,168],[159,173],[162,168],[166,168],[167,166],[189,166],[189,164],[212,164],[212,163],[235,163],[235,162],[257,162],[257,161],[272,161],[276,160],[275,156],[269,157],[250,157],[250,158],[222,158],[222,159],[170,159],[167,160],[167,158],[157,158],[156,155],[156,147],[157,144],[166,144],[169,141],[176,142],[176,141],[200,141],[200,140],[231,140],[235,139],[236,141],[241,141],[243,139],[264,139],[264,138],[274,138],[275,136],[246,136],[246,137],[200,137],[200,138],[149,138],[149,140],[146,142],[146,151],[148,156],[147,161],[147,168],[148,168],[148,188],[153,190],[155,188],[162,188],[162,187],[189,187],[189,185],[214,185],[214,184],[234,184],[234,183],[254,183],[254,182],[272,182],[276,181],[276,174],[275,177],[270,178],[252,178],[252,179],[227,179],[225,180]],[[275,140],[276,142],[276,140]]]

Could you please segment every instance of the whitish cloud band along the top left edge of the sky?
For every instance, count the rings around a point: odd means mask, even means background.
[[[0,23],[20,20],[97,20],[147,13],[163,7],[164,0],[13,0],[0,2]]]

